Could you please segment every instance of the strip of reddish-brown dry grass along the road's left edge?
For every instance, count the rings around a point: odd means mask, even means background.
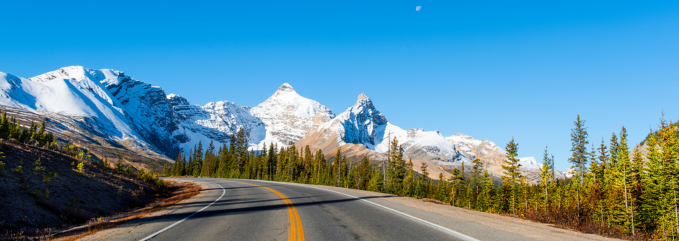
[[[54,241],[77,240],[81,237],[97,233],[100,230],[113,228],[122,223],[134,221],[156,211],[160,211],[163,208],[168,208],[173,204],[177,204],[182,200],[199,194],[200,190],[202,189],[199,184],[195,184],[193,182],[178,182],[171,180],[165,180],[164,182],[166,183],[166,187],[168,187],[168,189],[174,190],[170,193],[170,197],[167,199],[158,200],[144,208],[139,208],[134,211],[93,219],[88,221],[86,225],[69,228],[68,230],[62,230],[61,232],[55,233],[54,235],[46,235],[38,239]]]

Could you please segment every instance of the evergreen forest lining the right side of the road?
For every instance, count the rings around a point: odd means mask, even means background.
[[[202,143],[180,154],[166,176],[243,178],[347,187],[401,196],[413,196],[488,213],[550,223],[560,228],[628,240],[676,240],[679,215],[679,138],[674,124],[661,119],[649,134],[646,154],[630,146],[627,130],[613,133],[594,147],[585,121],[577,117],[571,129],[574,175],[555,178],[554,158],[545,148],[540,182],[530,183],[518,172],[518,143],[510,141],[501,183],[494,183],[478,159],[453,169],[452,177],[429,179],[403,157],[398,141],[391,142],[386,168],[367,157],[347,160],[340,151],[326,160],[323,151],[265,146],[248,151],[245,133],[232,136],[229,146],[204,149]],[[426,164],[425,164],[426,165]]]

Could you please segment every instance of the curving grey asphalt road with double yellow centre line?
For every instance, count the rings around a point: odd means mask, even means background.
[[[332,187],[182,178],[207,184],[185,207],[107,240],[531,240]]]

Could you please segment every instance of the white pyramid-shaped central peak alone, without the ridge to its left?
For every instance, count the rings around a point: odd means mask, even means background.
[[[258,143],[277,143],[278,146],[295,143],[308,131],[335,118],[335,112],[314,100],[303,98],[288,83],[252,108],[250,113],[266,126],[266,137]]]

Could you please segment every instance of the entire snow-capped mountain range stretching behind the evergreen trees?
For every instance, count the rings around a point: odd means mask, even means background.
[[[388,158],[390,141],[396,139],[415,170],[426,163],[432,178],[439,173],[448,177],[451,168],[470,165],[475,158],[492,175],[501,176],[505,158],[492,141],[401,129],[364,94],[335,115],[288,83],[255,107],[230,101],[199,106],[111,69],[69,66],[28,79],[0,72],[0,109],[20,116],[23,124],[45,119],[47,129],[62,142],[77,143],[98,158],[117,160],[117,155],[124,155],[125,162],[137,168],[162,165],[198,143],[204,148],[210,141],[215,146],[228,144],[241,129],[255,150],[265,144],[295,143],[299,148],[322,149],[331,159],[340,150],[348,158],[368,156],[378,164]],[[522,170],[535,172],[534,159],[522,160],[526,162]]]

